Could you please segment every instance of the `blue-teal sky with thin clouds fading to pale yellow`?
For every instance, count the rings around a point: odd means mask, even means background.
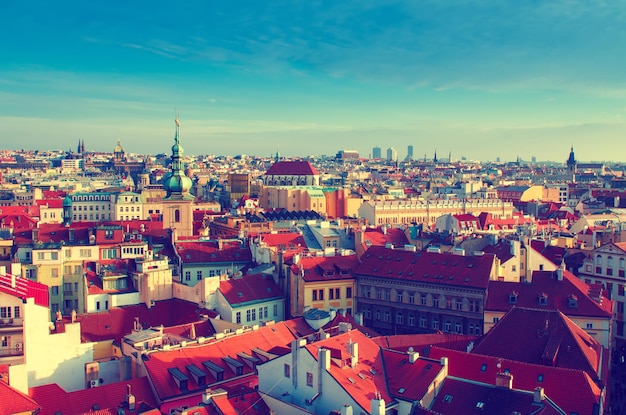
[[[0,2],[0,149],[626,161],[626,3]]]

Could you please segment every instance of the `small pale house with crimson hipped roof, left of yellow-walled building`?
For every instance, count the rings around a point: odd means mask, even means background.
[[[243,275],[220,281],[216,296],[220,317],[235,324],[251,326],[285,318],[285,297],[271,275]]]

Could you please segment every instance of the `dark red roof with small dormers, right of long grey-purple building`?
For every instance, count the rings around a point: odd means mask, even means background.
[[[613,314],[613,302],[602,297],[598,303],[589,296],[591,287],[574,274],[563,270],[563,279],[559,281],[556,272],[535,271],[532,282],[489,281],[489,290],[485,311],[506,312],[513,306],[559,310],[568,316],[583,316],[610,319]],[[511,295],[517,293],[515,302]],[[545,293],[545,306],[539,306],[539,295]],[[576,297],[572,303],[570,299]],[[574,306],[575,304],[575,306]]]

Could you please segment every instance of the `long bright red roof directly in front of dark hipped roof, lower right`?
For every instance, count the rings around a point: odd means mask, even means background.
[[[447,357],[449,376],[490,385],[495,385],[496,373],[508,370],[513,375],[514,389],[530,391],[541,386],[546,396],[568,414],[592,415],[595,413],[594,406],[600,402],[600,388],[581,370],[534,365],[439,347],[432,347],[429,357]]]

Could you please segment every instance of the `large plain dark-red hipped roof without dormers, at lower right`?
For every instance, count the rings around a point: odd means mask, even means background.
[[[602,345],[559,311],[514,307],[472,352],[582,370],[597,379]]]

